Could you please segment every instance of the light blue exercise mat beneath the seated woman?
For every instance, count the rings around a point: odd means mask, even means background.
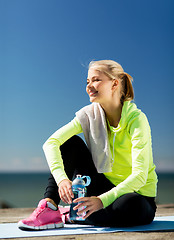
[[[151,224],[129,227],[110,228],[95,227],[89,225],[65,224],[64,228],[43,231],[22,231],[18,229],[17,223],[0,224],[0,238],[22,238],[22,237],[42,237],[77,234],[96,234],[113,232],[146,232],[146,231],[166,231],[174,230],[174,216],[155,217]]]

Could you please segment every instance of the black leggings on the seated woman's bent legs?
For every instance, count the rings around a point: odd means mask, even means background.
[[[60,147],[60,150],[69,179],[73,179],[77,174],[91,177],[87,196],[98,196],[115,187],[104,174],[97,172],[91,153],[80,137],[73,136]],[[56,204],[60,202],[58,187],[52,175],[48,179],[44,197],[51,198]],[[122,227],[144,225],[153,221],[155,211],[155,198],[134,192],[119,197],[111,205],[91,214],[81,223]]]

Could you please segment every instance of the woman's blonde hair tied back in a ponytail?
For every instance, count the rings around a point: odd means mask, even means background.
[[[89,68],[96,68],[102,71],[110,79],[118,79],[121,82],[121,99],[124,101],[130,101],[134,99],[134,90],[132,86],[133,78],[126,72],[124,72],[122,66],[113,60],[100,60],[91,61],[89,63]]]

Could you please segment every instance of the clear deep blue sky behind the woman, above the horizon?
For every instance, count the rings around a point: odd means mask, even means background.
[[[0,172],[49,171],[46,139],[90,104],[91,60],[119,62],[174,171],[173,0],[0,0]]]

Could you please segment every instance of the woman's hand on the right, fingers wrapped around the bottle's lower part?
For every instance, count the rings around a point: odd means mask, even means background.
[[[80,203],[77,204],[73,209],[78,210],[77,215],[86,213],[86,215],[83,217],[84,219],[89,217],[93,212],[96,212],[103,208],[103,203],[99,197],[80,197],[80,198],[76,198],[73,201],[73,203],[78,203],[78,202]]]

